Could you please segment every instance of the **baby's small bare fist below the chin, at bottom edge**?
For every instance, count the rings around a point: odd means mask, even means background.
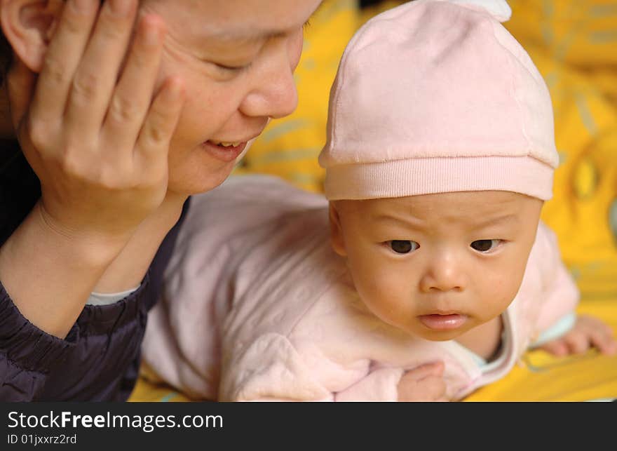
[[[398,382],[399,401],[447,401],[442,362],[409,370]]]

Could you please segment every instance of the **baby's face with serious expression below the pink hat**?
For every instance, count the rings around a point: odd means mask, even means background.
[[[373,314],[424,339],[454,339],[513,301],[541,208],[509,191],[337,201],[332,244]]]

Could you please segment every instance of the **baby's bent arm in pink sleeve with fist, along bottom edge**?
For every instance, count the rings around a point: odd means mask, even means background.
[[[331,361],[307,363],[293,344],[276,333],[262,335],[244,349],[224,356],[219,400],[234,401],[429,401],[445,400],[443,364],[421,365],[407,372],[378,368],[357,377],[347,389],[332,391],[323,382],[351,379],[353,370]],[[337,368],[339,367],[339,368]],[[320,377],[319,372],[327,375]]]

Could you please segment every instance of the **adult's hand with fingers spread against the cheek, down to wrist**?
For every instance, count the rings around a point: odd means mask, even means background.
[[[15,62],[8,87],[47,226],[122,243],[165,197],[183,92],[170,79],[153,95],[163,22],[144,16],[127,53],[137,1],[108,0],[97,19],[99,3],[68,0],[38,80]]]

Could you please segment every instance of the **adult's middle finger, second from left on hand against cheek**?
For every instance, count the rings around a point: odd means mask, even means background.
[[[126,55],[136,12],[136,0],[107,0],[102,6],[69,93],[67,132],[98,133],[100,130]]]

